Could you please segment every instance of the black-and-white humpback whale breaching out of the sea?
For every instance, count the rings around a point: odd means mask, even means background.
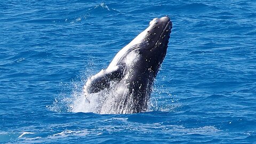
[[[131,114],[147,110],[171,29],[168,16],[153,19],[148,28],[115,55],[106,69],[87,79],[85,97],[101,95],[98,113]]]

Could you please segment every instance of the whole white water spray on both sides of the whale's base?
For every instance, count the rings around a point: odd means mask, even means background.
[[[86,73],[91,74],[94,70],[86,71]],[[87,77],[90,77],[90,75],[88,74]],[[65,111],[96,114],[122,114],[122,111],[123,113],[129,113],[129,108],[132,106],[132,95],[125,95],[128,93],[125,85],[111,83],[111,89],[105,89],[98,93],[86,94],[82,88],[86,82],[85,79],[86,78],[81,78],[70,84],[61,83],[60,86],[63,90],[61,90],[60,94],[54,99],[53,104],[46,107],[51,111],[56,111],[58,113]],[[145,112],[173,111],[173,109],[179,107],[179,105],[177,105],[177,100],[171,97],[172,95],[169,94],[167,89],[163,90],[155,88],[152,92],[152,97],[148,101],[148,109],[146,109]],[[124,100],[130,101],[130,103],[124,105]],[[120,108],[119,111],[116,111],[116,107]]]

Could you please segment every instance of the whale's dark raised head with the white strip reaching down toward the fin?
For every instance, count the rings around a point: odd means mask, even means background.
[[[149,22],[148,28],[143,30],[116,54],[108,69],[112,69],[118,63],[122,63],[124,56],[132,51],[139,51],[143,58],[141,59],[142,61],[150,62],[150,67],[154,66],[155,69],[158,69],[165,58],[171,29],[172,22],[168,16],[153,19]]]

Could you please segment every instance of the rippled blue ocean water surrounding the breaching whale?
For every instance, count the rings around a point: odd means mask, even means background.
[[[164,15],[148,112],[86,112],[86,79]],[[0,143],[256,143],[255,1],[1,1],[0,50]]]

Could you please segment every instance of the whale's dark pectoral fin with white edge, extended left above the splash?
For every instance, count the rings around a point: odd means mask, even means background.
[[[123,78],[124,67],[117,66],[114,70],[101,70],[98,74],[89,78],[84,86],[87,93],[97,93],[110,86],[111,81],[120,81]]]

